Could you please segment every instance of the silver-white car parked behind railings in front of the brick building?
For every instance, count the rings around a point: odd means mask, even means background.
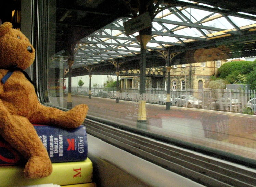
[[[180,95],[179,97],[174,98],[173,103],[175,106],[202,108],[203,102],[193,95]]]

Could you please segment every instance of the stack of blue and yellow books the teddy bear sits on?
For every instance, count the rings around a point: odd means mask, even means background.
[[[1,187],[95,187],[92,182],[92,162],[87,158],[85,126],[62,129],[48,125],[34,125],[52,161],[53,171],[48,177],[27,179],[23,174],[26,160],[0,137]]]

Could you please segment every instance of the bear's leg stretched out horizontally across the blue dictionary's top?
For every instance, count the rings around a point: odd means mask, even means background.
[[[69,111],[38,105],[37,110],[29,121],[33,124],[57,125],[64,128],[75,128],[80,126],[87,115],[88,106],[80,104]]]

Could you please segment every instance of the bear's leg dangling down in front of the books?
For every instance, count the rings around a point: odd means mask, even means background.
[[[51,160],[33,125],[22,116],[7,113],[3,118],[4,120],[0,120],[1,135],[28,159],[24,169],[25,176],[27,178],[49,176],[52,173]]]

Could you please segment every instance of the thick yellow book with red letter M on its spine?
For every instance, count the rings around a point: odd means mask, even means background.
[[[23,167],[1,166],[0,187],[27,186],[53,183],[71,185],[92,182],[92,162],[89,158],[81,162],[53,163],[52,174],[40,179],[27,179],[23,174]]]

